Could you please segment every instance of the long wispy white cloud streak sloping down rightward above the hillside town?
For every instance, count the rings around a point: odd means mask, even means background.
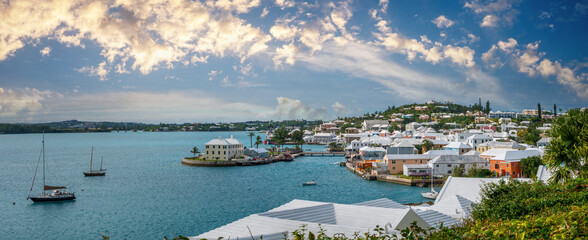
[[[449,99],[456,95],[464,98],[476,94],[498,96],[499,90],[492,78],[480,81],[477,78],[464,85],[460,79],[421,73],[391,61],[379,47],[365,43],[353,42],[345,46],[326,44],[323,51],[300,61],[316,71],[340,71],[379,83],[394,96],[409,101],[431,97]],[[463,64],[467,65],[469,60],[464,61]],[[470,71],[470,68],[465,71]]]

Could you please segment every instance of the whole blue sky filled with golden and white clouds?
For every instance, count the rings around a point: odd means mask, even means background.
[[[588,0],[0,1],[0,122],[588,105]]]

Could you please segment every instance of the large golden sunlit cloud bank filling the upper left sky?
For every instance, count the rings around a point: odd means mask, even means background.
[[[44,37],[77,47],[84,47],[82,40],[92,41],[117,72],[126,72],[127,62],[132,70],[148,74],[193,56],[233,54],[244,60],[265,50],[271,36],[233,13],[246,13],[259,4],[260,0],[1,4],[0,61],[30,40]]]

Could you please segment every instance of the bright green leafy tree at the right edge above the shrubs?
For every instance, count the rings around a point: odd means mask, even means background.
[[[550,182],[562,183],[586,170],[588,160],[588,111],[572,109],[555,120],[551,142],[543,157],[553,172]]]

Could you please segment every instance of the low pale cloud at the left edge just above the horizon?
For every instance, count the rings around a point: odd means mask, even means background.
[[[42,110],[42,100],[51,95],[54,95],[51,91],[41,91],[36,88],[0,88],[0,117],[34,115]]]

